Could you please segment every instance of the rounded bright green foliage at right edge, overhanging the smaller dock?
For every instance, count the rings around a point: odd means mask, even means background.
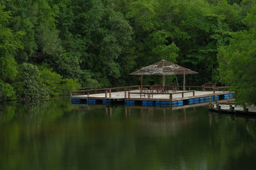
[[[237,103],[256,104],[256,29],[234,33],[227,48],[218,53],[220,77],[232,86]]]

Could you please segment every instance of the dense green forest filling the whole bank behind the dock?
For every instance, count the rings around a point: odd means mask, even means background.
[[[256,103],[256,0],[2,0],[0,28],[0,99],[134,85],[166,59]]]

